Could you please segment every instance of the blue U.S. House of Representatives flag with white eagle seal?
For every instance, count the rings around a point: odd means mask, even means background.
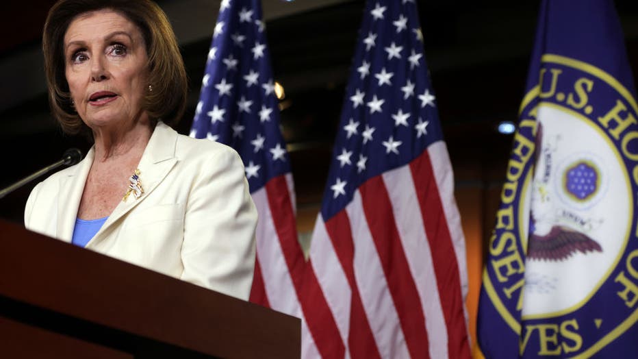
[[[638,123],[611,0],[543,1],[479,306],[487,358],[638,355]]]

